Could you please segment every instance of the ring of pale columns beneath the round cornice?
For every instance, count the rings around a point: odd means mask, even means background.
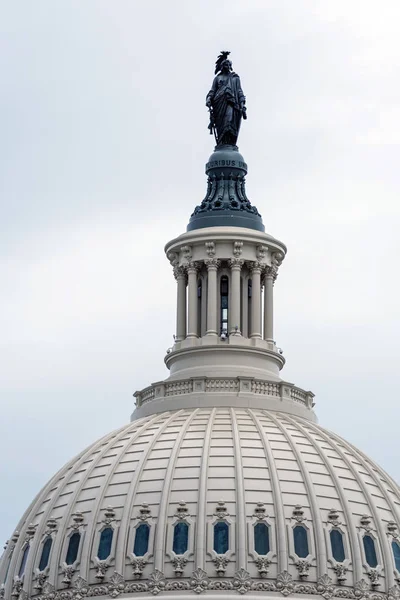
[[[243,277],[243,266],[246,268],[246,279]],[[218,273],[223,272],[229,278],[229,335],[242,335],[240,324],[248,316],[246,337],[264,338],[273,341],[273,285],[276,269],[258,261],[245,262],[239,258],[231,258],[221,263],[217,258],[188,262],[185,266],[174,269],[177,281],[177,315],[176,341],[199,337],[199,302],[198,277],[206,275],[206,335],[218,336],[219,315],[221,313],[221,294],[218,288]],[[251,302],[249,302],[247,285],[251,280]],[[264,314],[262,318],[262,290],[264,290]],[[263,327],[262,327],[263,324]]]

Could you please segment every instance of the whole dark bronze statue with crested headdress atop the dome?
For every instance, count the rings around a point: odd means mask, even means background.
[[[206,106],[210,111],[210,134],[214,133],[217,146],[236,146],[240,123],[247,118],[246,97],[239,75],[232,71],[230,52],[223,51],[215,63],[215,75],[207,94]]]

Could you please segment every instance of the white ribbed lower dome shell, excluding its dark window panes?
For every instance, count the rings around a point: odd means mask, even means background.
[[[182,521],[188,549],[178,556],[173,532]],[[217,522],[229,527],[223,555],[213,549]],[[3,555],[0,583],[6,580],[6,598],[49,600],[159,592],[397,597],[392,544],[399,522],[398,486],[315,423],[262,409],[182,409],[133,421],[59,471],[19,523]],[[148,552],[135,557],[141,523],[150,526]],[[269,528],[263,555],[254,546],[257,523]],[[294,548],[299,525],[307,532],[306,557]],[[98,560],[105,528],[113,529],[111,552]],[[332,555],[332,529],[343,536],[340,562]],[[74,532],[81,534],[79,550],[67,566]],[[375,567],[367,562],[365,535],[375,545]],[[40,570],[49,537],[48,565]]]

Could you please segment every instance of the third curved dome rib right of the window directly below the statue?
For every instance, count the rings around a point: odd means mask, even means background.
[[[307,495],[308,495],[308,498],[310,501],[310,509],[311,509],[311,516],[312,516],[312,521],[313,521],[314,537],[315,537],[315,541],[316,541],[315,550],[316,550],[316,563],[317,563],[317,578],[319,578],[319,577],[322,577],[323,575],[325,575],[325,573],[327,572],[328,564],[327,564],[326,545],[325,545],[325,538],[324,538],[324,526],[322,523],[321,511],[320,511],[318,503],[317,503],[317,497],[314,494],[314,485],[311,480],[311,476],[308,471],[307,465],[305,464],[305,461],[301,455],[301,451],[297,448],[296,442],[293,440],[292,436],[286,430],[285,426],[283,425],[283,423],[280,421],[279,418],[273,416],[271,413],[269,413],[268,416],[271,419],[271,421],[273,421],[275,423],[275,425],[278,427],[278,429],[282,432],[283,436],[287,440],[290,448],[292,449],[293,454],[296,457],[297,464],[298,464],[301,474],[303,476],[304,485],[306,486]],[[282,421],[284,422],[283,418],[282,418]]]

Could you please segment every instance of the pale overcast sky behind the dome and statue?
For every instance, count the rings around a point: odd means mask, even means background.
[[[0,541],[167,376],[229,49],[248,195],[288,246],[283,377],[400,479],[398,0],[0,1]]]

